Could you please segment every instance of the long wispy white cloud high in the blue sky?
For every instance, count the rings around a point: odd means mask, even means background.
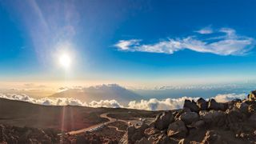
[[[234,29],[222,28],[216,32],[210,30],[199,30],[200,34],[210,34],[218,36],[210,38],[190,35],[186,38],[168,38],[154,44],[141,44],[141,40],[120,40],[114,46],[118,50],[140,51],[148,53],[174,54],[179,50],[193,50],[200,53],[211,53],[218,55],[244,55],[254,47],[254,38],[240,36]]]

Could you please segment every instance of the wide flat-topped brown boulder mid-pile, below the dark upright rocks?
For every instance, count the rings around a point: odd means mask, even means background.
[[[226,122],[226,114],[221,110],[202,110],[199,112],[199,115],[208,125],[223,126]]]

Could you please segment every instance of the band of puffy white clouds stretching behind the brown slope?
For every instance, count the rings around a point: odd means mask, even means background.
[[[92,102],[82,102],[75,98],[31,98],[26,94],[0,94],[0,98],[10,100],[18,100],[23,102],[31,102],[34,104],[45,106],[90,106],[90,107],[111,107],[111,108],[130,108],[139,110],[171,110],[182,108],[185,99],[197,100],[198,98],[182,97],[182,98],[166,98],[157,99],[150,98],[148,100],[142,99],[141,101],[131,101],[127,106],[122,106],[116,100],[101,100]],[[217,102],[228,102],[235,98],[246,98],[246,94],[218,94],[213,97]]]

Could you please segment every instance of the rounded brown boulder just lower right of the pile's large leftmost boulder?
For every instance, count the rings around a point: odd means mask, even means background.
[[[182,120],[171,123],[167,130],[167,135],[174,138],[185,138],[188,130]]]

